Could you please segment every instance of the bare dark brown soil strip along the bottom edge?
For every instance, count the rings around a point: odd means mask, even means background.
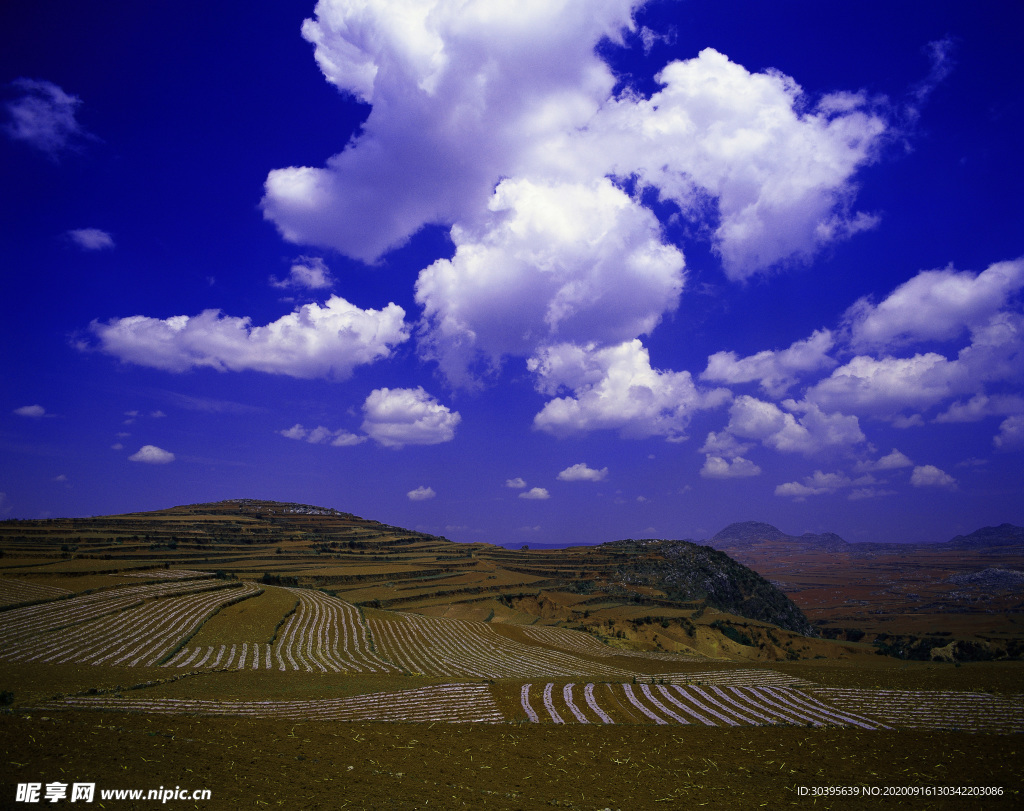
[[[169,808],[1020,808],[1019,736],[530,724],[338,724],[110,713],[0,721],[17,782],[209,788]],[[815,800],[798,786],[1001,786],[1001,797]],[[7,805],[9,804],[9,806]],[[48,807],[50,804],[46,804]],[[58,804],[58,805],[63,805]],[[77,805],[77,804],[76,804]]]

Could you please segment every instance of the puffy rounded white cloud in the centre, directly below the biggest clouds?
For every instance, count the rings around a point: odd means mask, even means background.
[[[479,227],[452,229],[455,256],[420,273],[424,353],[464,382],[477,357],[528,355],[555,342],[615,344],[676,308],[683,256],[654,215],[606,178],[505,180]]]

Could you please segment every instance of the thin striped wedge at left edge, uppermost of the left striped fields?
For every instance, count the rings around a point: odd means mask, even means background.
[[[157,597],[168,598],[225,588],[234,586],[212,580],[155,583],[144,586],[123,586],[66,600],[12,608],[3,615],[4,622],[0,626],[0,649],[8,648],[15,640],[38,637],[104,614],[124,611]]]

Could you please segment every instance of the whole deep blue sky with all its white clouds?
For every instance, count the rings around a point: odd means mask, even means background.
[[[0,11],[0,515],[1024,523],[1024,9]]]

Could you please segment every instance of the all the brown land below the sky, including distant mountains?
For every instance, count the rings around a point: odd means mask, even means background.
[[[995,529],[510,550],[256,500],[0,522],[0,792],[1019,807],[1024,547]]]

